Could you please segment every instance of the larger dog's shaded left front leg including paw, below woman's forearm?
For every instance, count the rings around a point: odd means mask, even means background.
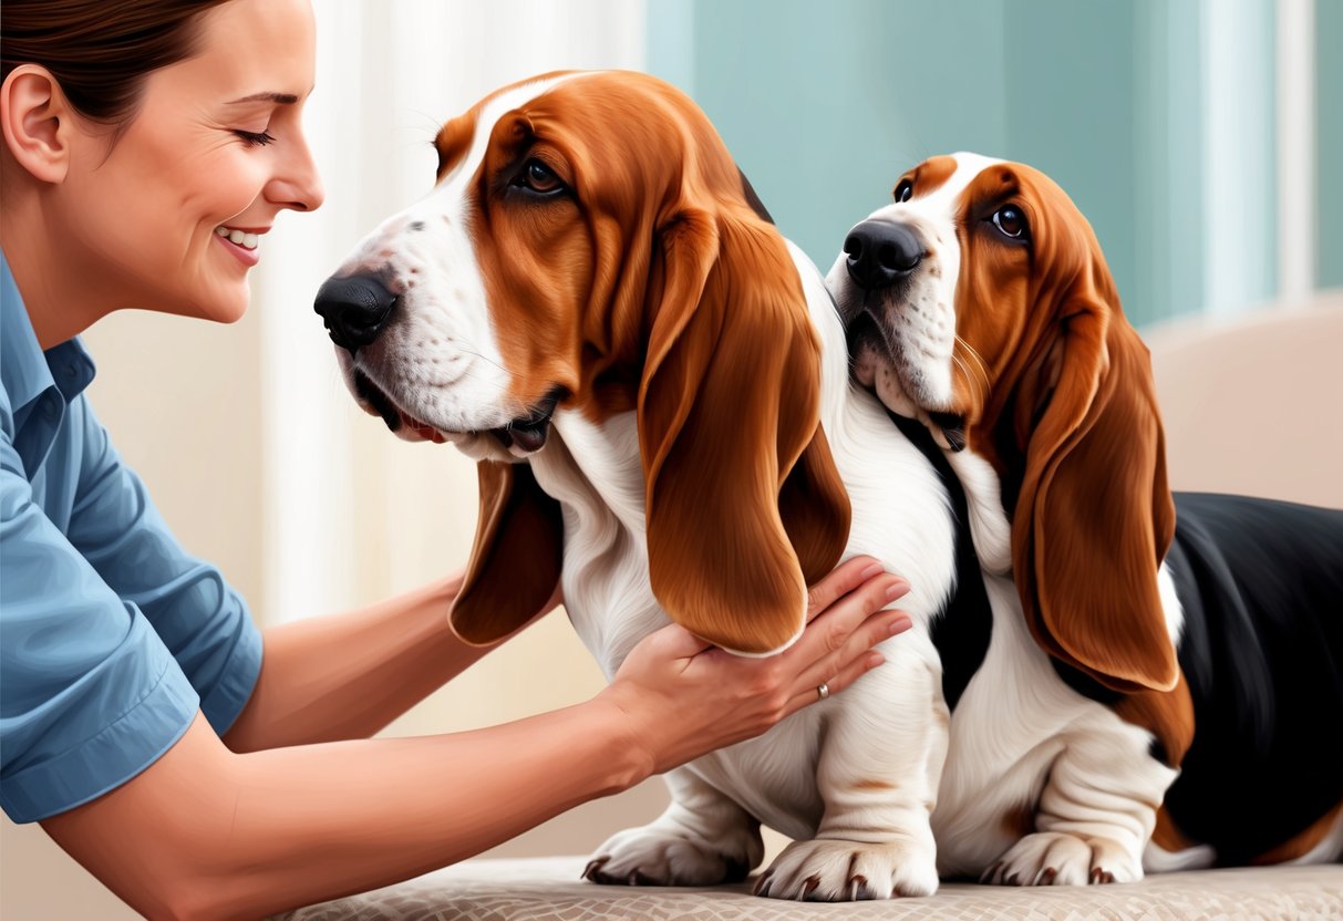
[[[685,768],[663,779],[672,789],[666,811],[607,839],[583,875],[630,886],[716,886],[745,879],[764,858],[760,823]]]

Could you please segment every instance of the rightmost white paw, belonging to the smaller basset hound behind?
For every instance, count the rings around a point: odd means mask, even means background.
[[[1026,835],[979,877],[1005,886],[1086,886],[1138,882],[1143,865],[1116,840],[1062,831]]]

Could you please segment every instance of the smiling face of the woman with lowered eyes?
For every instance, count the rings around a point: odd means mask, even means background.
[[[313,40],[309,0],[230,0],[204,13],[199,54],[146,78],[110,153],[106,128],[77,129],[62,223],[126,301],[111,306],[243,316],[275,216],[322,201],[299,124]]]

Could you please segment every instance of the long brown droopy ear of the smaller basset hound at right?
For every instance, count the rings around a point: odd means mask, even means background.
[[[1038,422],[1026,400],[1014,420],[1029,439],[1013,517],[1017,588],[1045,650],[1115,690],[1170,690],[1179,666],[1156,573],[1175,506],[1147,346],[1099,256],[1060,322],[1057,385]]]

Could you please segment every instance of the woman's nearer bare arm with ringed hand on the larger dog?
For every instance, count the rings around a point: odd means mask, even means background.
[[[821,682],[850,685],[909,623],[873,614],[907,587],[864,565],[823,581],[814,607],[829,610],[770,659],[667,627],[596,698],[453,736],[238,755],[197,717],[134,779],[42,824],[149,917],[258,917],[388,885],[759,734]]]

